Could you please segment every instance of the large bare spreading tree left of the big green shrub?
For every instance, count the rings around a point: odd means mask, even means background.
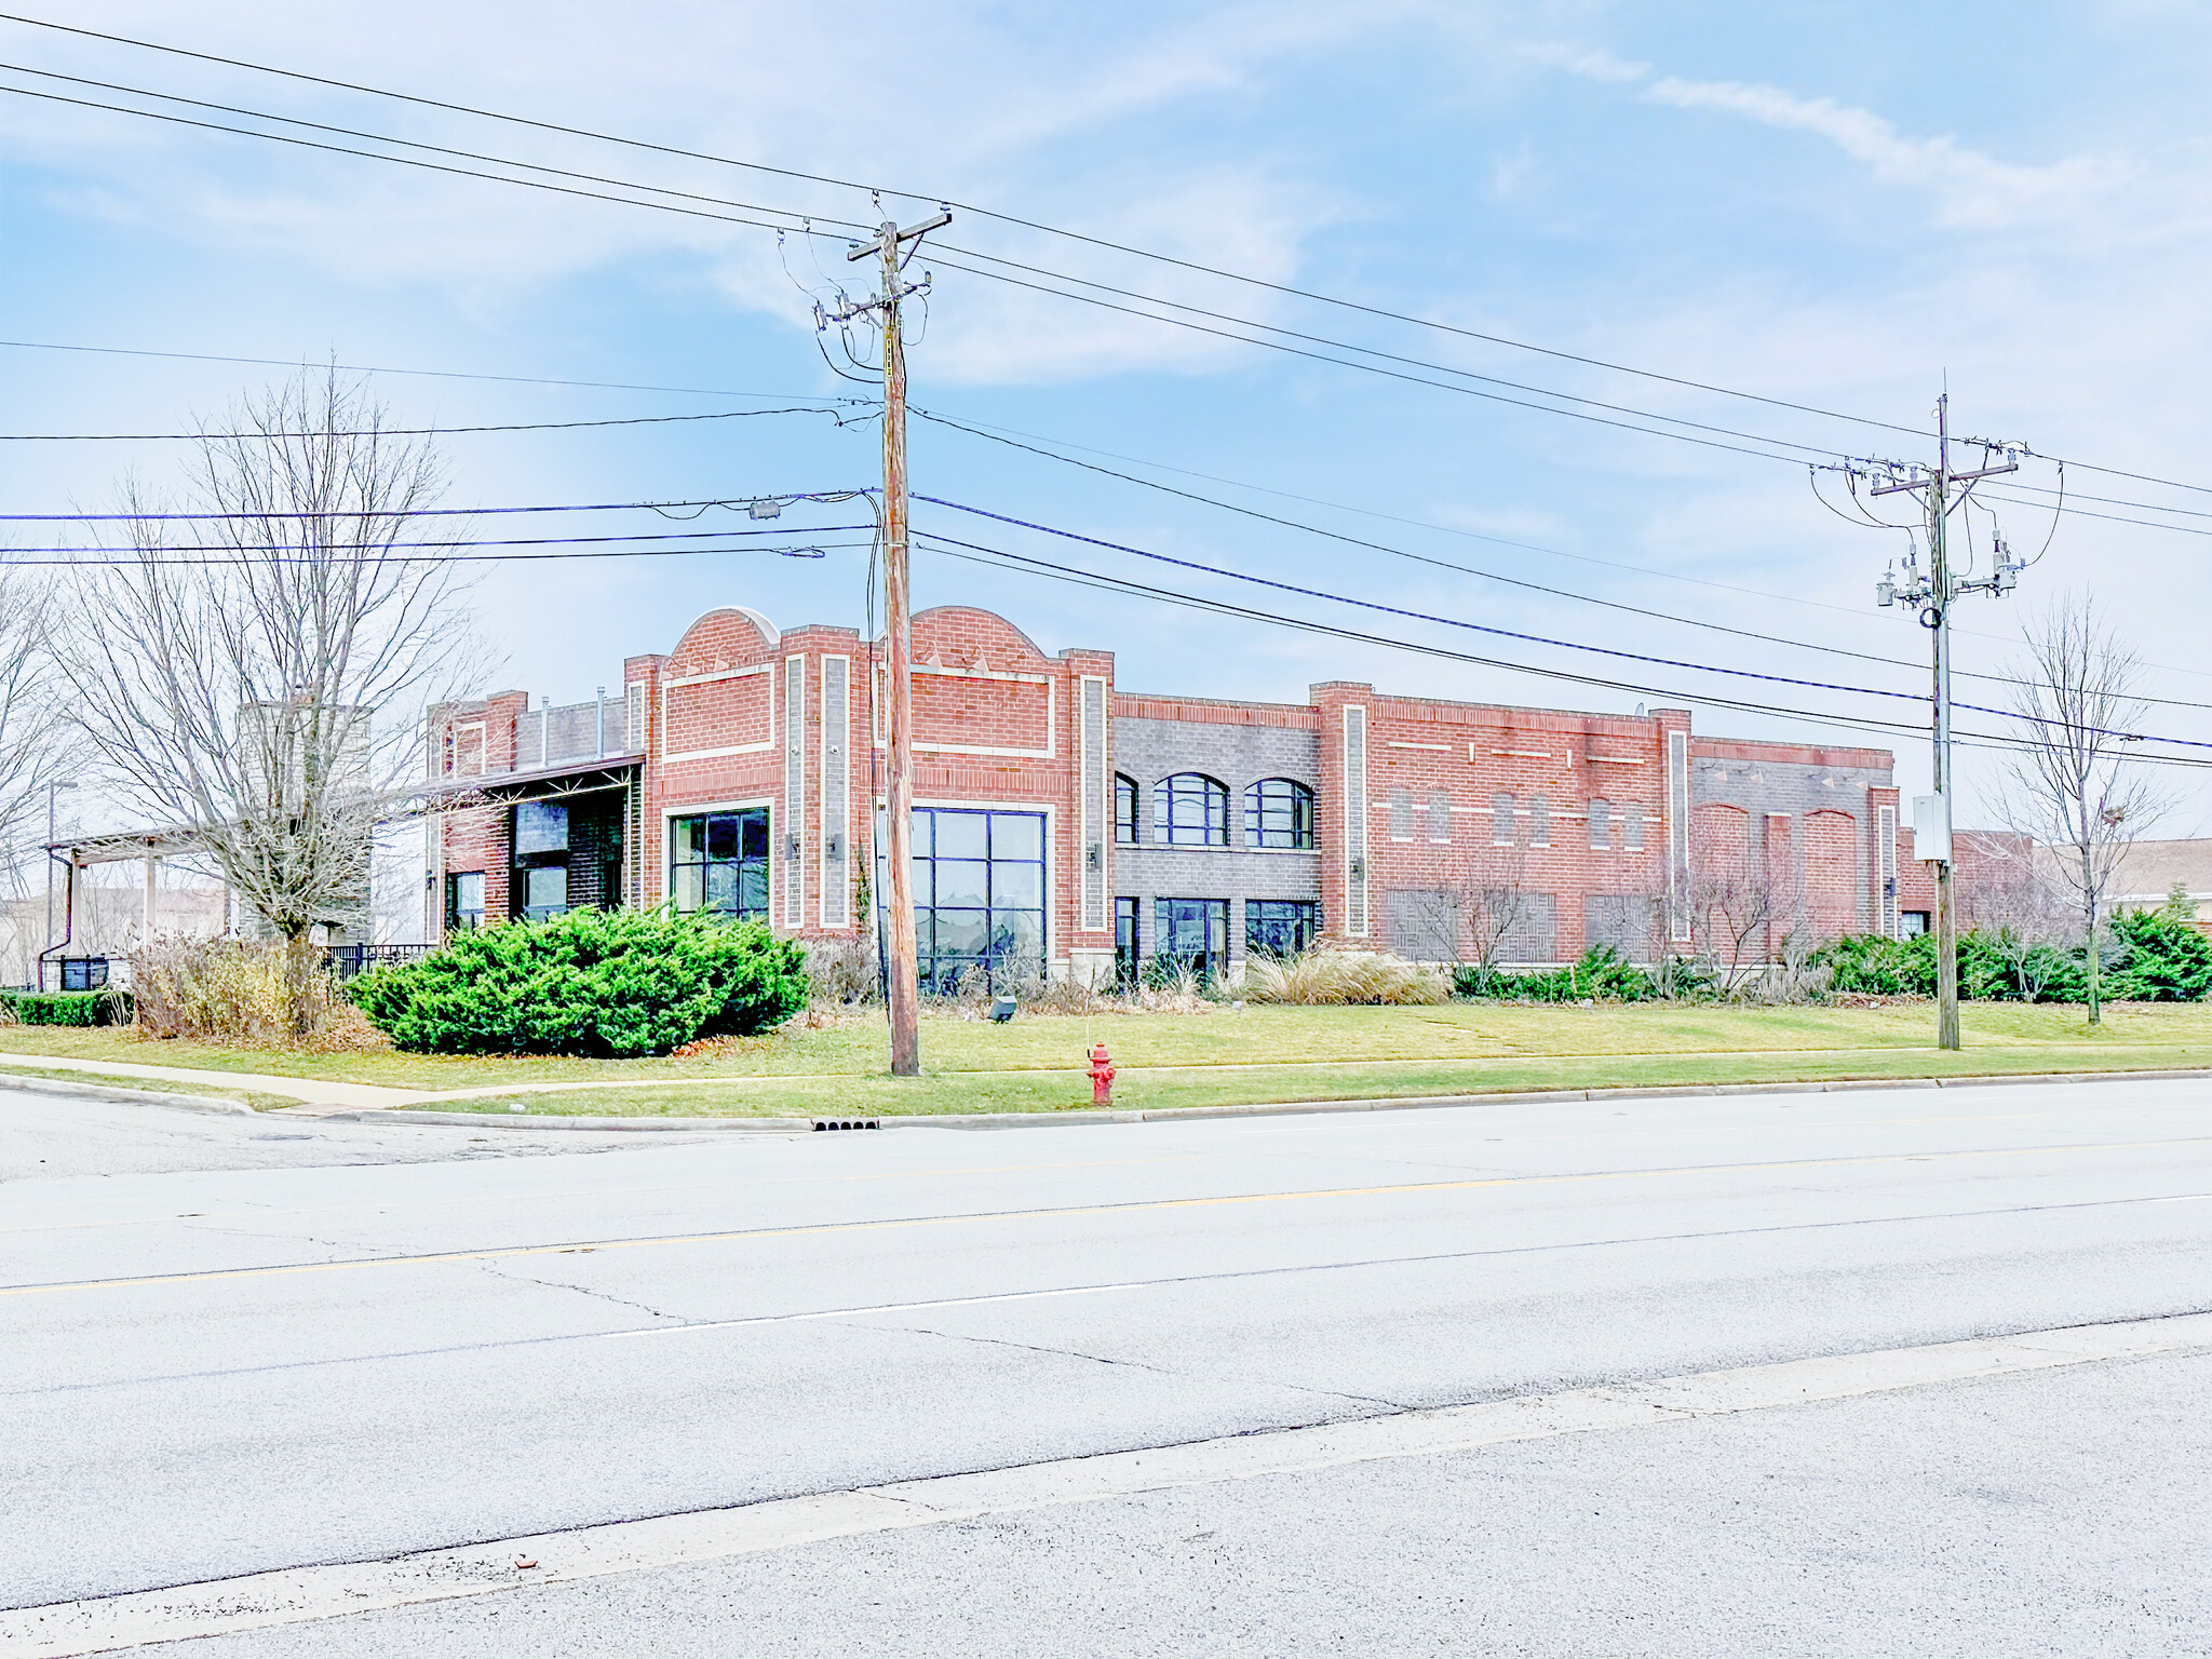
[[[181,509],[124,487],[135,557],[73,573],[73,726],[299,969],[312,929],[367,916],[374,827],[420,774],[420,710],[478,664],[458,566],[403,546],[456,540],[411,518],[442,493],[440,456],[385,425],[334,369],[248,396],[201,425]]]

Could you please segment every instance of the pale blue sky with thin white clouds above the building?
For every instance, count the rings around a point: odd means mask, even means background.
[[[321,0],[190,9],[73,0],[35,15],[973,201],[1436,323],[1907,427],[1927,422],[1949,383],[1962,431],[2212,484],[2201,396],[2212,367],[2201,97],[2212,20],[2197,7],[392,0],[365,22],[361,7]],[[29,69],[823,219],[876,217],[856,190],[22,24],[0,22],[0,62]],[[20,69],[0,71],[0,84],[71,91]],[[860,392],[825,369],[812,330],[814,299],[852,281],[834,243],[818,261],[787,246],[787,272],[774,237],[750,228],[15,95],[0,97],[0,336],[11,341],[281,361],[334,354],[770,400]],[[891,206],[905,219],[927,210]],[[1929,453],[1927,440],[1900,431],[1484,345],[1004,223],[960,217],[947,241],[1805,445],[1807,458]],[[9,409],[0,425],[168,431],[219,414],[265,374],[276,372],[0,347]],[[1840,522],[1801,465],[1301,361],[953,270],[936,274],[911,374],[925,409],[1179,489],[1427,560],[1898,664],[1531,593],[925,422],[914,431],[920,493],[1493,628],[1686,664],[1924,688],[1924,668],[1913,666],[1920,630],[1871,606],[1871,584],[1902,538]],[[378,374],[374,387],[403,425],[757,407],[741,396],[403,374]],[[449,453],[453,504],[838,489],[874,482],[878,467],[872,429],[807,416],[456,436]],[[0,445],[0,487],[15,511],[69,511],[113,498],[124,469],[161,482],[175,462],[175,445]],[[2055,473],[2031,465],[2022,482],[2048,487]],[[2068,487],[2212,509],[2208,495],[2079,469]],[[2212,529],[2212,518],[2137,507],[2090,511]],[[2031,504],[2000,502],[1997,513],[2026,553],[2051,531],[2051,515]],[[916,520],[1102,575],[1690,697],[1557,684],[916,555],[920,604],[993,606],[1048,650],[1110,648],[1130,690],[1301,699],[1310,681],[1374,679],[1566,708],[1692,701],[1701,730],[1772,737],[1820,728],[1699,699],[1913,717],[1905,703],[1847,692],[1270,597],[945,509],[918,509]],[[787,522],[849,520],[825,511]],[[1975,533],[1986,535],[1986,520]],[[2201,535],[2068,515],[2020,597],[1969,606],[1960,664],[2002,670],[2020,615],[2088,588],[2154,664],[2146,690],[2212,703],[2199,644],[2205,551]],[[670,648],[712,604],[750,604],[787,624],[858,624],[860,557],[732,551],[491,566],[480,599],[493,679],[588,697],[619,679],[624,655]],[[2161,708],[2152,723],[2212,739],[2203,710]],[[1922,785],[1924,743],[1829,732],[1891,743],[1900,779]],[[1973,818],[1989,765],[1973,761],[1966,779]],[[2190,787],[2170,830],[2197,832],[2203,816]]]

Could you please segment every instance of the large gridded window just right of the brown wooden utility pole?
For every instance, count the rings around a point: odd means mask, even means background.
[[[914,933],[925,989],[1044,973],[1044,814],[914,810]]]

